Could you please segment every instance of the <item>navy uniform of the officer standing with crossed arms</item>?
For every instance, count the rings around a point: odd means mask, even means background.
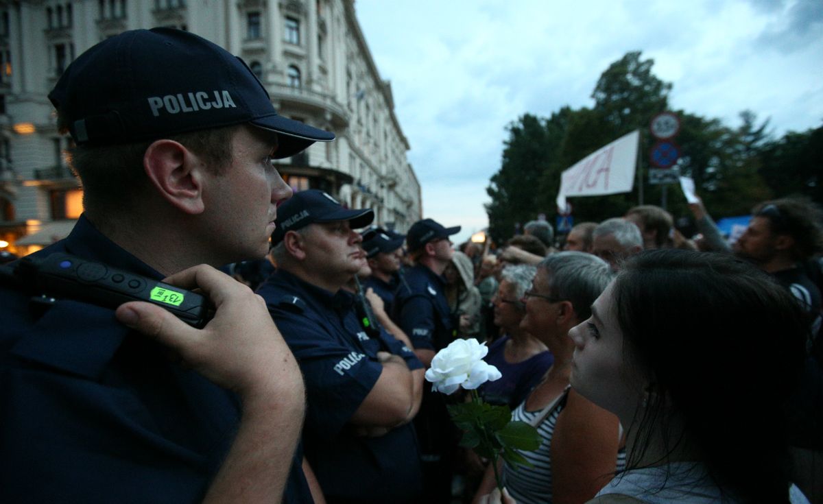
[[[385,331],[369,338],[348,292],[332,294],[280,269],[258,294],[303,371],[303,445],[328,501],[414,502],[421,467],[411,423],[379,437],[356,436],[349,425],[383,370],[377,352],[399,355],[412,370],[422,367],[414,352]]]

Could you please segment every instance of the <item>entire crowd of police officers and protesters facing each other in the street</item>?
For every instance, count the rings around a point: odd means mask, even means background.
[[[221,106],[157,109],[181,90]],[[695,237],[645,205],[455,247],[459,226],[402,235],[292,194],[272,158],[333,135],[197,35],[105,40],[50,99],[85,212],[30,259],[198,289],[214,313],[198,329],[3,276],[0,501],[823,502],[815,204],[760,203],[733,245],[694,203]],[[489,346],[502,378],[478,393],[535,427],[528,464],[458,447],[462,399],[424,380],[455,338]]]

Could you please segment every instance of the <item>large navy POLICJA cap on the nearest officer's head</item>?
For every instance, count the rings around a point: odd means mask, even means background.
[[[277,115],[242,59],[172,28],[125,31],[96,44],[49,93],[77,144],[107,145],[250,123],[277,133],[274,157],[334,134]]]

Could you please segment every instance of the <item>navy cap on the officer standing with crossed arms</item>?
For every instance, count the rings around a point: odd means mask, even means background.
[[[348,210],[331,194],[318,189],[296,193],[277,208],[277,226],[272,233],[272,246],[286,236],[286,231],[296,231],[314,222],[348,221],[351,229],[365,227],[374,221],[371,208]]]

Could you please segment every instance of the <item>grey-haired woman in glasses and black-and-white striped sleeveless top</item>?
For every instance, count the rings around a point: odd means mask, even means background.
[[[611,281],[609,265],[592,254],[560,252],[537,266],[524,293],[523,329],[554,354],[542,381],[512,412],[513,420],[537,428],[536,451],[519,451],[532,467],[501,463],[504,487],[518,504],[586,502],[625,464],[617,417],[570,390],[574,342],[569,329],[588,319],[597,296]],[[475,502],[495,488],[486,470]]]

